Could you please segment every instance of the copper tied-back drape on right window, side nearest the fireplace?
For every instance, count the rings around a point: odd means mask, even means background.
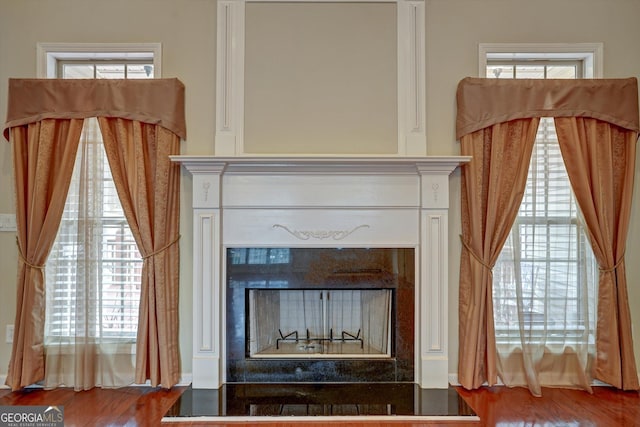
[[[493,267],[522,202],[538,122],[497,123],[460,140],[462,153],[473,157],[462,174],[459,289],[458,380],[469,389],[498,382]]]

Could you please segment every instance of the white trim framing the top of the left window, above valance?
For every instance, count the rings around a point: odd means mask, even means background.
[[[161,43],[43,43],[36,44],[36,75],[55,78],[58,60],[151,59],[154,78],[162,77]]]

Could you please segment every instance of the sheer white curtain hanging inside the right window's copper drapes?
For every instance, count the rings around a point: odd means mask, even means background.
[[[590,390],[598,270],[560,153],[542,119],[523,201],[494,267],[498,371],[507,385]]]

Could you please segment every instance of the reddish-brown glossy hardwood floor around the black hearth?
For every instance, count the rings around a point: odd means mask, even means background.
[[[163,415],[185,388],[171,390],[150,387],[127,387],[117,390],[93,389],[74,392],[70,389],[50,391],[30,389],[20,392],[0,390],[0,406],[62,405],[65,426],[159,426]],[[527,390],[506,387],[482,388],[475,391],[458,389],[464,400],[476,411],[480,422],[304,422],[312,426],[345,427],[419,427],[419,426],[589,426],[640,427],[640,393],[622,392],[606,387],[594,388],[593,394],[576,390],[544,389],[542,397]],[[195,423],[171,423],[179,427]],[[216,423],[217,426],[300,426],[291,422]]]

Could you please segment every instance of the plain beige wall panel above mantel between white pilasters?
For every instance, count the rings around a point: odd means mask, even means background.
[[[397,153],[395,9],[248,4],[245,152]]]

